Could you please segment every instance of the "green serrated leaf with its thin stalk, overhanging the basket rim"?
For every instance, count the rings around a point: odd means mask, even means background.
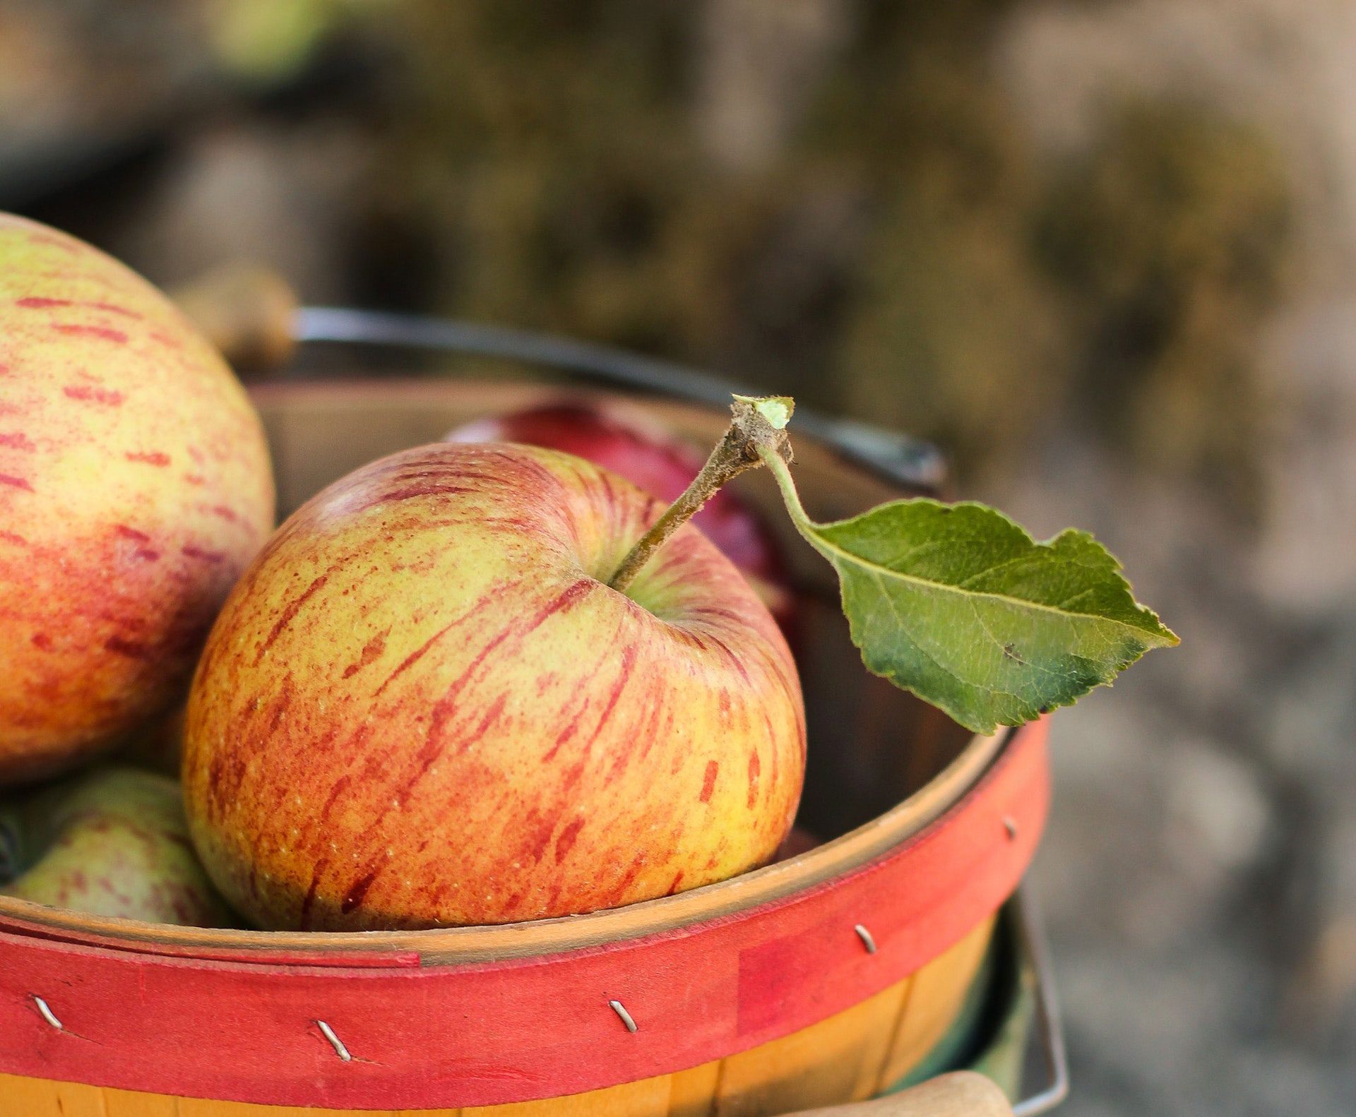
[[[800,534],[838,571],[866,667],[974,732],[1067,706],[1177,644],[1086,531],[1036,542],[994,508],[926,499],[820,525],[785,464],[762,458]]]

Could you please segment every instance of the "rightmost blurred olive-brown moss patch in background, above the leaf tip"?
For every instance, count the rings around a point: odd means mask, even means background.
[[[1271,140],[1203,106],[1135,103],[1051,190],[1041,255],[1081,340],[1082,413],[1142,461],[1254,511],[1268,314],[1294,252]]]

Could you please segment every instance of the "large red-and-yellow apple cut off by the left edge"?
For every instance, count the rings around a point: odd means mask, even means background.
[[[183,694],[273,500],[259,418],[179,310],[0,214],[0,785]]]

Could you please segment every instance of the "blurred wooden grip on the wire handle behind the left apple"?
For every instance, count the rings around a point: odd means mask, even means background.
[[[274,369],[292,357],[297,297],[262,264],[225,264],[170,297],[237,370]]]

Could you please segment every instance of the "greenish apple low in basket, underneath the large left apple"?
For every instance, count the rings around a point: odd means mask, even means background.
[[[188,842],[179,785],[103,767],[0,804],[0,895],[96,915],[235,923]]]

